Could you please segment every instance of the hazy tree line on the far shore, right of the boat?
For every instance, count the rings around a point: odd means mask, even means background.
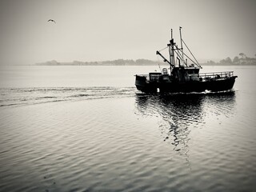
[[[221,66],[228,66],[228,65],[256,65],[256,54],[254,55],[255,58],[248,58],[246,56],[246,54],[244,53],[240,53],[239,56],[235,56],[233,58],[233,60],[228,57],[225,59],[220,60],[219,62],[214,62],[214,61],[208,61],[207,63],[205,63],[206,65],[212,65],[212,66],[217,66],[217,65],[221,65]]]

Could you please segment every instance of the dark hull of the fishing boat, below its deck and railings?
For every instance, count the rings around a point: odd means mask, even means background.
[[[231,90],[234,86],[235,78],[223,78],[212,81],[190,81],[190,82],[150,82],[146,77],[136,75],[135,86],[138,90],[145,93],[190,93],[203,92],[210,90],[212,92]]]

